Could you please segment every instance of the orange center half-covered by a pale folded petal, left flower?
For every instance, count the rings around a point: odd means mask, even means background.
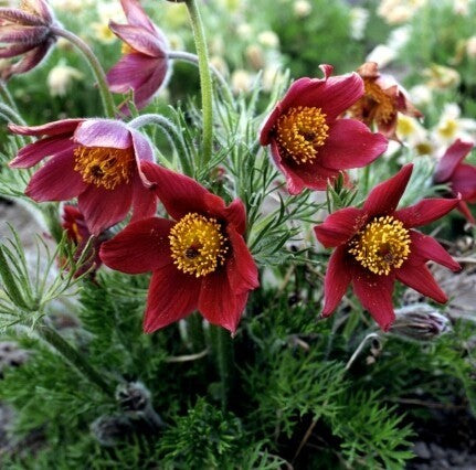
[[[118,184],[130,181],[135,162],[131,149],[78,147],[74,157],[74,169],[85,183],[114,190]]]

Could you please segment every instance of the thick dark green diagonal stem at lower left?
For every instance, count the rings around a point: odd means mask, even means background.
[[[52,345],[77,372],[91,383],[101,388],[107,396],[114,397],[114,388],[107,384],[103,376],[86,361],[86,359],[65,341],[55,330],[41,325],[38,329],[41,338]]]

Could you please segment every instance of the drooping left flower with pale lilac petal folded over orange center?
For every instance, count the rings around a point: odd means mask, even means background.
[[[91,233],[123,221],[130,206],[133,220],[156,212],[151,183],[139,170],[140,161],[154,161],[149,142],[137,130],[113,119],[64,119],[44,126],[10,125],[22,136],[42,137],[23,147],[10,162],[31,168],[46,157],[25,194],[36,202],[68,201],[77,196]]]

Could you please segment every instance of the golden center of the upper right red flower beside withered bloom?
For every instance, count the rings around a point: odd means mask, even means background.
[[[318,148],[322,147],[329,126],[320,108],[298,106],[289,108],[276,124],[277,142],[286,157],[297,164],[316,159]]]

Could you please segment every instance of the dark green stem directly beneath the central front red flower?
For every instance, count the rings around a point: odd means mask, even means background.
[[[221,382],[222,408],[226,408],[228,395],[232,388],[233,341],[230,332],[222,327],[210,325],[212,356],[216,361],[216,368]]]

